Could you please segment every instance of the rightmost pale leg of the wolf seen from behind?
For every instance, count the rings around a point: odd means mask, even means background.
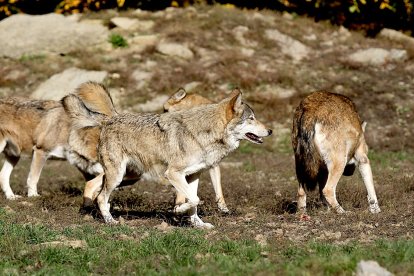
[[[378,204],[377,195],[374,188],[374,180],[372,178],[371,165],[368,159],[366,152],[368,147],[365,143],[362,143],[356,150],[355,159],[358,162],[358,169],[361,173],[362,180],[364,181],[365,188],[368,192],[368,204],[369,211],[373,214],[381,212],[381,209]]]

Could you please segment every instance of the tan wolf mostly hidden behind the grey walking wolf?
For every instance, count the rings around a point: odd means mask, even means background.
[[[194,108],[200,105],[212,104],[213,102],[198,94],[187,94],[187,92],[180,88],[175,92],[164,104],[164,112],[174,112]],[[211,183],[216,194],[216,203],[218,209],[222,213],[228,213],[229,208],[226,205],[221,188],[221,171],[220,166],[213,166],[209,169]],[[176,198],[176,205],[181,205],[185,202],[184,195],[178,193]]]

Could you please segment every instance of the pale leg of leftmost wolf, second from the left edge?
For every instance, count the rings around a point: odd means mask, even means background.
[[[40,174],[46,163],[47,154],[44,150],[34,146],[32,163],[30,164],[30,172],[27,177],[27,196],[39,196],[37,193],[37,183],[39,182]]]

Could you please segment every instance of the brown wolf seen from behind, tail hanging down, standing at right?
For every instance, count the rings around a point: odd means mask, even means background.
[[[292,127],[292,146],[299,182],[298,211],[306,214],[306,190],[319,184],[322,200],[337,213],[344,209],[336,199],[341,175],[352,175],[357,166],[368,192],[369,210],[381,210],[375,193],[366,122],[346,96],[320,91],[303,99],[296,108]]]

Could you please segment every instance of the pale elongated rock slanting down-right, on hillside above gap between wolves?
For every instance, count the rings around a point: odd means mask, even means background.
[[[265,31],[267,39],[274,40],[285,55],[290,56],[294,62],[299,62],[309,56],[311,49],[302,42],[282,34],[276,29],[268,29]]]

